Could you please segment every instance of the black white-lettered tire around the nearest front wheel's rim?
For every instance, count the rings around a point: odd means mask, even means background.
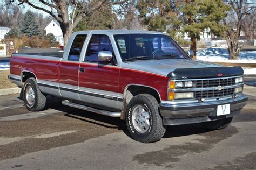
[[[143,133],[139,132],[136,127],[134,127],[132,121],[132,116],[134,114],[133,109],[136,109],[138,106],[144,107],[147,110],[147,115],[150,117],[149,129],[145,129],[145,132]],[[142,143],[153,143],[164,136],[166,126],[163,125],[163,119],[159,114],[158,108],[159,104],[156,98],[150,94],[139,94],[131,99],[126,108],[125,121],[127,129],[134,140]]]

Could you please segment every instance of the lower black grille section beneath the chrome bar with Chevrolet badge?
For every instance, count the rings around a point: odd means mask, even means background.
[[[222,90],[203,90],[203,91],[196,91],[195,96],[196,99],[199,98],[220,98],[220,97],[228,97],[234,95],[235,88],[228,88]]]

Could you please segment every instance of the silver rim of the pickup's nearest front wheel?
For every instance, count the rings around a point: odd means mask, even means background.
[[[132,124],[139,133],[145,133],[150,128],[150,114],[143,105],[137,105],[132,111]]]

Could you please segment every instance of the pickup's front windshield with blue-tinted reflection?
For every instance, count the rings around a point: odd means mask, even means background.
[[[123,61],[190,59],[179,45],[163,34],[117,34],[114,35]]]

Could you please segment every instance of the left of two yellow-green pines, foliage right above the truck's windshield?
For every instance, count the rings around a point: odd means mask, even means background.
[[[182,2],[176,1],[158,1],[148,3],[146,1],[138,1],[137,9],[139,18],[148,30],[166,32],[179,44],[188,44],[183,39],[184,34],[181,31],[183,20],[180,18],[180,8]]]

